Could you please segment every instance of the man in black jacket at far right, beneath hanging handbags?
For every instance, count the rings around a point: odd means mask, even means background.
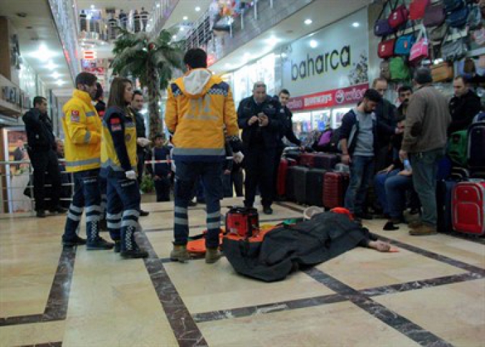
[[[450,100],[451,124],[448,127],[448,136],[459,130],[466,130],[472,123],[473,117],[482,109],[480,98],[468,85],[463,76],[455,77],[453,81],[455,96]]]

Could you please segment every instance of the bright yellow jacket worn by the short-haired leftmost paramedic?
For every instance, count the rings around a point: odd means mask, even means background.
[[[78,172],[99,168],[101,121],[91,104],[91,96],[75,89],[62,112],[66,170]]]

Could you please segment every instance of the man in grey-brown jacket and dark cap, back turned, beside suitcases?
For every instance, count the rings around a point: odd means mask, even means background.
[[[411,235],[436,233],[436,171],[446,146],[446,130],[451,122],[448,100],[432,87],[431,71],[421,67],[414,74],[416,91],[409,100],[401,160],[408,159],[413,170],[413,184],[423,215],[410,223]]]

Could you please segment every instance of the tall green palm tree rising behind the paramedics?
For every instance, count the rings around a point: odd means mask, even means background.
[[[138,78],[148,89],[150,138],[162,132],[160,117],[160,90],[166,89],[175,69],[182,69],[183,52],[180,44],[170,43],[172,35],[167,30],[152,37],[150,33],[121,33],[114,42],[113,73],[123,77]]]

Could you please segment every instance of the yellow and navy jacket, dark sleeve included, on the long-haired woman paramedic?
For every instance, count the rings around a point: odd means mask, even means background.
[[[129,108],[109,107],[103,117],[101,175],[125,178],[136,171],[136,121]]]

